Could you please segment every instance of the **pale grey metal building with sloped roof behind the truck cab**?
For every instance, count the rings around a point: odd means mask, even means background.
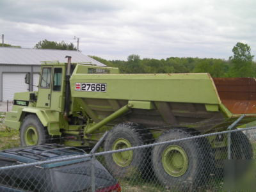
[[[65,56],[72,56],[72,62],[105,66],[78,51],[0,47],[0,101],[13,100],[15,92],[37,90],[41,62],[67,62]],[[36,86],[24,83],[26,73],[31,74],[31,84]]]

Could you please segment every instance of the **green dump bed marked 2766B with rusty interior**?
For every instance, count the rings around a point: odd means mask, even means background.
[[[77,65],[70,79],[74,101],[95,121],[106,118],[129,100],[150,101],[152,109],[131,109],[110,124],[131,121],[156,127],[256,116],[254,78],[216,78],[209,74],[84,74]],[[94,85],[93,85],[94,84]],[[90,88],[93,86],[95,88]],[[214,127],[216,127],[214,124]],[[200,131],[212,125],[202,124]]]

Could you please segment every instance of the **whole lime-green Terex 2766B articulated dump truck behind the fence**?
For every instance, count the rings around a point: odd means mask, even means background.
[[[29,76],[25,81],[30,82]],[[20,131],[22,146],[54,141],[93,147],[109,131],[103,148],[116,150],[225,131],[241,115],[241,124],[252,122],[255,88],[255,79],[249,77],[119,74],[118,68],[71,63],[68,57],[67,63],[42,64],[38,92],[15,93],[5,124]],[[248,140],[245,135],[240,138]],[[252,150],[246,143],[244,148]],[[216,135],[118,152],[105,160],[114,175],[146,170],[149,162],[157,179],[170,185],[202,179],[207,159],[220,158],[212,151],[223,152],[227,159],[226,149],[227,136]]]

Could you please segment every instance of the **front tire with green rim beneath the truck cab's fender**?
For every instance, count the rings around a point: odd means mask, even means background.
[[[46,143],[47,131],[36,115],[28,115],[20,126],[20,145],[32,146]]]

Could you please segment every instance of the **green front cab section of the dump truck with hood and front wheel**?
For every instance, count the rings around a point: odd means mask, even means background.
[[[83,74],[119,73],[118,68],[99,67],[92,63],[71,63],[71,58],[68,58],[68,63],[42,62],[39,83],[33,85],[38,86],[38,91],[15,93],[12,111],[6,113],[5,124],[7,127],[20,130],[21,145],[41,143],[42,133],[38,132],[36,127],[27,127],[28,129],[23,132],[21,130],[22,124],[29,117],[31,120],[36,120],[36,124],[46,127],[45,137],[61,136],[60,129],[68,126],[68,116],[72,113],[70,109],[75,108],[74,98],[70,95],[69,79],[76,67]],[[29,84],[29,82],[30,77],[27,74],[25,83]],[[45,139],[42,142],[45,142]]]

